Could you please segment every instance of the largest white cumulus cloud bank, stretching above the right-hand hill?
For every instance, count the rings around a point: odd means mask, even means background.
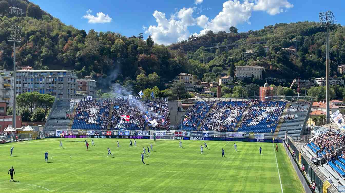
[[[198,3],[197,3],[198,2]],[[195,0],[195,4],[199,4],[203,0]],[[228,0],[223,3],[223,9],[213,18],[206,15],[198,17],[193,16],[201,13],[198,8],[175,9],[175,13],[167,19],[165,13],[155,11],[152,15],[156,19],[156,25],[150,25],[146,30],[146,34],[150,34],[158,44],[171,44],[177,41],[187,39],[191,34],[188,31],[189,26],[198,25],[203,30],[200,33],[193,33],[194,36],[206,34],[212,30],[217,33],[219,31],[228,31],[231,25],[236,26],[241,23],[250,24],[250,17],[253,11],[264,11],[270,15],[279,14],[287,9],[293,8],[293,4],[288,0]],[[210,8],[207,8],[210,10]]]

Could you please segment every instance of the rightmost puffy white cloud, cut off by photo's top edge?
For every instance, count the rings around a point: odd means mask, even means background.
[[[254,0],[254,11],[266,11],[270,15],[284,12],[286,9],[293,8],[294,5],[287,0]]]

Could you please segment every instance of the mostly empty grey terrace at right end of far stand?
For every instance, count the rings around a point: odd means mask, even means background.
[[[304,103],[302,108],[303,111],[296,111],[290,110],[288,113],[294,114],[295,118],[292,120],[283,121],[280,123],[279,131],[277,137],[284,138],[285,133],[291,136],[293,139],[299,139],[302,133],[303,126],[306,123],[306,119],[308,118],[308,114],[310,113],[310,103]],[[291,103],[292,107],[298,107],[296,103]],[[301,107],[301,106],[299,106]],[[285,115],[282,115],[284,118]]]

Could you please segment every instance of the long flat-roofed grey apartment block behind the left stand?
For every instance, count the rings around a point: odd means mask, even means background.
[[[77,74],[68,70],[17,70],[16,93],[39,92],[52,96],[77,95]]]

